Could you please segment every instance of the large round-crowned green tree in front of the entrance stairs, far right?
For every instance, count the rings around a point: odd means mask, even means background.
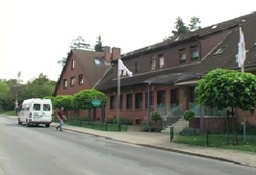
[[[210,71],[195,87],[198,102],[205,107],[219,110],[230,107],[254,112],[256,107],[256,76],[235,70]],[[233,113],[233,136],[235,118]]]

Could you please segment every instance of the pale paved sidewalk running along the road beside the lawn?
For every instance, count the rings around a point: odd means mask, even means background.
[[[51,126],[55,127],[57,123],[52,123]],[[166,133],[147,133],[140,131],[106,132],[70,125],[64,125],[63,129],[193,156],[239,163],[256,168],[256,153],[173,143],[170,142],[169,134]]]

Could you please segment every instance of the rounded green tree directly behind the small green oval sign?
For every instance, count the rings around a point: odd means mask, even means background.
[[[99,100],[101,102],[101,105],[105,105],[108,98],[105,93],[96,89],[85,89],[74,94],[73,107],[77,110],[89,110],[90,115],[91,109],[101,108],[101,106],[94,107],[91,103],[92,100]]]

